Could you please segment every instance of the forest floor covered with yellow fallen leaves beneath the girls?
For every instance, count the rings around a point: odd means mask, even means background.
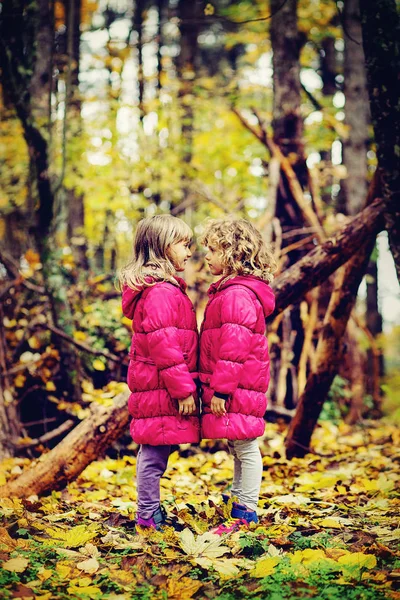
[[[232,474],[222,444],[171,455],[162,495],[180,531],[135,533],[132,452],[91,464],[63,491],[0,500],[0,597],[400,598],[400,430],[325,422],[315,454],[292,461],[284,433],[267,424],[261,441],[259,524],[228,536],[210,533]],[[28,464],[6,461],[2,474]]]

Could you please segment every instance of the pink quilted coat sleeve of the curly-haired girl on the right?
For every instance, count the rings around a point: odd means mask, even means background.
[[[210,387],[218,394],[233,394],[243,363],[249,356],[257,312],[247,290],[230,288],[221,302],[221,332],[218,360]]]

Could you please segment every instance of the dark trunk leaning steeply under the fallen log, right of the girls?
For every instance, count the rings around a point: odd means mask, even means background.
[[[343,334],[374,243],[374,238],[369,239],[337,273],[318,341],[316,371],[308,377],[286,437],[286,456],[289,459],[311,452],[311,436],[343,356]]]

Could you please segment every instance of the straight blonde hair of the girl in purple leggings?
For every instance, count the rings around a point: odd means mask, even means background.
[[[132,289],[153,285],[147,278],[165,281],[175,275],[168,256],[171,244],[190,242],[193,232],[181,219],[171,215],[155,215],[139,221],[133,240],[133,256],[118,275],[119,288]]]

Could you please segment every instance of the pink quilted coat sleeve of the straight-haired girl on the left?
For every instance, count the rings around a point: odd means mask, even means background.
[[[172,398],[187,398],[196,390],[179,343],[179,297],[167,286],[155,285],[144,303],[143,330],[149,353]]]

